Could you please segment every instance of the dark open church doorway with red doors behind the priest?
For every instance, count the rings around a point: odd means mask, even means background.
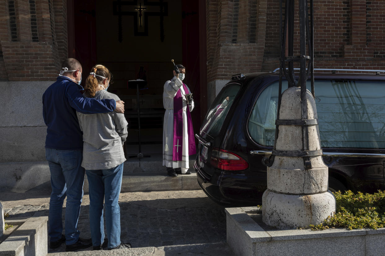
[[[162,152],[162,93],[172,78],[171,59],[186,66],[184,83],[193,93],[191,114],[194,131],[199,131],[207,108],[202,84],[206,73],[201,71],[201,63],[206,64],[206,25],[199,21],[200,15],[206,20],[204,0],[72,0],[67,5],[69,57],[82,63],[83,81],[94,64],[103,64],[113,74],[108,90],[125,102],[127,155],[138,153],[138,105],[142,153]],[[139,102],[137,90],[128,86],[135,79],[147,81],[139,90]]]

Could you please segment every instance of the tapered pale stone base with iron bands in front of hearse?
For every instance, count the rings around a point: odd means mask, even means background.
[[[317,119],[313,96],[306,90],[308,119]],[[301,88],[291,87],[282,94],[280,120],[301,120]],[[280,125],[276,150],[303,150],[302,126]],[[307,126],[309,150],[320,150],[318,124]],[[303,157],[275,156],[267,168],[267,190],[262,197],[262,220],[280,229],[318,225],[336,209],[328,191],[328,167],[322,155],[310,157],[305,170]]]

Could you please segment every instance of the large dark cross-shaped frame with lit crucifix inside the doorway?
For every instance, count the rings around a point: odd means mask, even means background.
[[[143,4],[142,4],[143,2]],[[168,3],[164,0],[117,0],[113,3],[114,15],[118,16],[118,40],[123,41],[123,16],[132,16],[134,19],[134,35],[148,36],[149,16],[159,16],[159,30],[161,41],[164,41],[164,16],[168,16]]]

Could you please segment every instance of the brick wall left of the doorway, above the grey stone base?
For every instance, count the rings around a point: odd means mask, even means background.
[[[5,0],[0,7],[0,79],[54,80],[67,58],[65,0]]]

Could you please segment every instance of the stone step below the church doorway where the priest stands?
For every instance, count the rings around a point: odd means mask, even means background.
[[[195,156],[190,156],[191,175],[169,177],[162,166],[162,154],[151,154],[124,162],[122,192],[200,189],[194,172]],[[51,190],[48,162],[0,163],[0,191],[26,192],[30,189]],[[87,177],[84,190],[88,192]]]

